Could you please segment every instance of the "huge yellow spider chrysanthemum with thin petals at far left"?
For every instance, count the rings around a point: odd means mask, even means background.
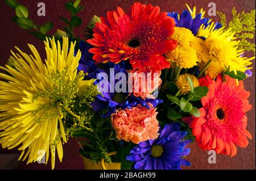
[[[28,44],[32,55],[15,47],[19,53],[11,52],[14,68],[0,66],[8,73],[0,73],[7,81],[0,81],[0,144],[8,149],[20,146],[19,159],[24,155],[27,163],[42,160],[44,154],[47,162],[50,150],[53,169],[55,150],[61,161],[62,141],[67,142],[62,119],[67,113],[79,118],[70,105],[93,80],[83,81],[82,71],[77,74],[81,52],[74,57],[75,44],[69,48],[67,37],[62,48],[54,38],[44,44],[45,64],[36,48]]]

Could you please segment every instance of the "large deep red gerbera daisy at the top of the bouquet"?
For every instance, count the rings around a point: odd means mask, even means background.
[[[130,60],[133,68],[170,68],[163,54],[176,47],[175,40],[167,40],[174,26],[174,19],[158,6],[134,3],[128,14],[118,7],[96,23],[94,38],[88,40],[96,48],[89,52],[96,64]]]

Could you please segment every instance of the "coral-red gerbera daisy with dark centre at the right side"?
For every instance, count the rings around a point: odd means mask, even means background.
[[[201,99],[199,118],[193,117],[190,123],[196,142],[202,149],[215,150],[233,157],[237,147],[248,145],[247,137],[251,134],[246,130],[247,117],[245,112],[251,109],[247,98],[250,92],[243,89],[243,82],[226,76],[222,82],[221,75],[216,81],[209,77],[200,79],[201,85],[207,85],[209,92]]]

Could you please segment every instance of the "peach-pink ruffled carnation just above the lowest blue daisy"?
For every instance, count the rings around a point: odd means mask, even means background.
[[[135,144],[158,138],[158,120],[156,108],[138,105],[131,109],[117,110],[112,114],[112,124],[119,140],[132,141]]]

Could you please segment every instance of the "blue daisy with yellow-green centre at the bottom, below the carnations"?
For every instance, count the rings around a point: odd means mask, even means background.
[[[140,142],[127,155],[126,159],[135,162],[134,169],[143,170],[180,170],[180,166],[191,163],[183,157],[189,154],[185,148],[192,140],[183,140],[187,131],[180,131],[179,123],[167,124],[159,131],[156,140]]]

